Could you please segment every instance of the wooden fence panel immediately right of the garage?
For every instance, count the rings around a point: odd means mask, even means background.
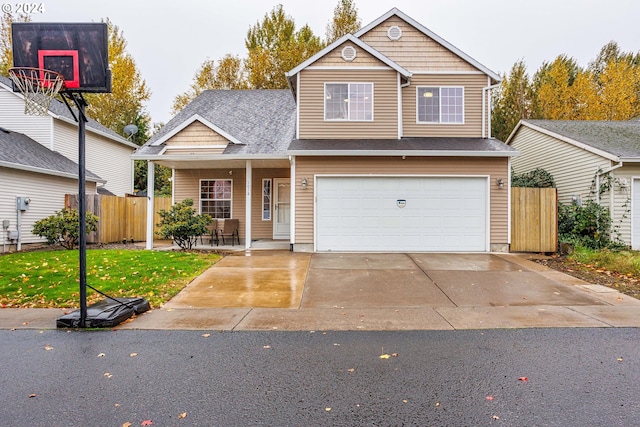
[[[511,251],[558,250],[558,196],[555,188],[511,188]]]

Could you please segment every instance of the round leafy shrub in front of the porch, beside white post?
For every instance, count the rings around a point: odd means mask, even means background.
[[[207,225],[213,221],[207,214],[196,215],[192,206],[193,200],[185,199],[169,210],[162,209],[158,212],[162,218],[158,224],[158,234],[164,239],[173,239],[182,249],[193,248],[198,237],[207,231]]]

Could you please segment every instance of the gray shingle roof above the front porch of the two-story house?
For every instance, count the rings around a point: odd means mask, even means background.
[[[195,115],[211,122],[241,144],[229,144],[225,154],[283,154],[295,137],[296,104],[291,91],[207,90],[176,114],[136,155],[157,154],[162,140]]]

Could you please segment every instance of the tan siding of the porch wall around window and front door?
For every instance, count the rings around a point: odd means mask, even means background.
[[[231,179],[233,181],[233,201],[231,215],[240,220],[240,238],[245,237],[245,185],[244,169],[177,169],[174,171],[174,199],[176,203],[184,199],[193,199],[194,206],[200,212],[200,180]],[[288,178],[289,169],[253,169],[251,198],[251,237],[254,239],[272,238],[273,222],[262,220],[262,179]],[[273,215],[273,214],[272,214]]]

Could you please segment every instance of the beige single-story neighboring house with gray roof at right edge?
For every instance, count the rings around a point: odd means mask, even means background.
[[[560,203],[608,207],[612,237],[640,249],[640,120],[523,120],[507,144],[521,153],[515,173],[542,168],[553,175]]]

